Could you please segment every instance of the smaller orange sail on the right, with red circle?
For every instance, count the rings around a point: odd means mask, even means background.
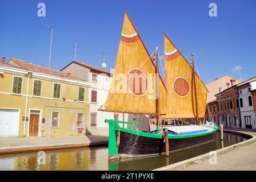
[[[165,76],[169,92],[167,118],[196,118],[193,69],[165,35]],[[198,117],[205,117],[208,90],[197,74]]]

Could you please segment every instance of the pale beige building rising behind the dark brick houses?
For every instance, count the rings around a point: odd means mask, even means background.
[[[233,80],[231,82],[230,80]],[[242,82],[237,78],[231,77],[229,75],[225,75],[223,77],[216,78],[215,80],[206,84],[207,89],[209,90],[209,94],[207,96],[207,103],[216,100],[215,94],[219,93],[222,90],[229,88],[232,85],[236,85]],[[229,87],[227,85],[230,85]]]

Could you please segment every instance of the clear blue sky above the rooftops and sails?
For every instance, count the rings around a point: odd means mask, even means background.
[[[38,17],[38,3],[46,5],[46,17]],[[209,4],[217,4],[217,17],[209,16]],[[130,15],[147,49],[158,45],[163,55],[165,31],[179,51],[191,52],[203,82],[231,75],[241,66],[242,79],[256,76],[256,1],[3,1],[0,2],[0,56],[27,60],[48,67],[50,30],[53,24],[51,68],[59,70],[74,59],[107,69],[114,67],[124,10]],[[163,60],[162,60],[163,61]]]

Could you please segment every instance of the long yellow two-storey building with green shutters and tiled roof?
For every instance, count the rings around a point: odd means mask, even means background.
[[[85,135],[89,83],[11,59],[0,63],[0,137]]]

